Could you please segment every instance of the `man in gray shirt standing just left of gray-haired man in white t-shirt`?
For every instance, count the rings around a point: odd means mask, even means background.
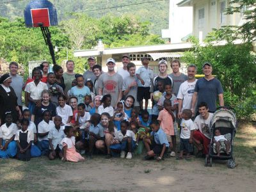
[[[175,94],[177,97],[180,84],[182,84],[184,81],[188,80],[188,76],[185,74],[182,74],[180,72],[180,61],[179,60],[173,60],[171,62],[171,68],[172,68],[172,74],[169,76],[172,77],[173,80],[173,87],[172,87],[172,92]]]

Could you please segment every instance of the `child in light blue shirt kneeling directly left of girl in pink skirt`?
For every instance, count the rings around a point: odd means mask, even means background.
[[[54,127],[52,127],[48,134],[49,139],[49,159],[53,160],[56,158],[62,158],[63,154],[61,152],[62,146],[60,142],[63,138],[65,138],[65,133],[63,127],[61,127],[61,116],[55,116],[54,118]]]

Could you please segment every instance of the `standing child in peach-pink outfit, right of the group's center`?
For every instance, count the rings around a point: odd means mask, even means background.
[[[175,119],[175,116],[172,113],[172,102],[166,99],[164,100],[164,109],[159,112],[157,120],[159,120],[159,124],[166,133],[168,142],[170,143],[172,150],[170,155],[175,157],[176,136],[173,128],[173,119]]]

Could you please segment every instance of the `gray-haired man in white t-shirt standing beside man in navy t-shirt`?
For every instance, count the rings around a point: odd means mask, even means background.
[[[191,101],[195,90],[197,79],[195,78],[196,66],[194,64],[188,67],[188,81],[180,84],[177,99],[179,100],[179,113],[181,118],[183,109],[191,109]]]

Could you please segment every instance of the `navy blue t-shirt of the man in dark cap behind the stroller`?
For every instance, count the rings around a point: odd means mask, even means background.
[[[209,106],[209,111],[216,111],[216,100],[218,95],[223,93],[223,88],[218,79],[213,78],[210,81],[200,78],[196,81],[195,92],[198,93],[197,104],[206,102]]]

